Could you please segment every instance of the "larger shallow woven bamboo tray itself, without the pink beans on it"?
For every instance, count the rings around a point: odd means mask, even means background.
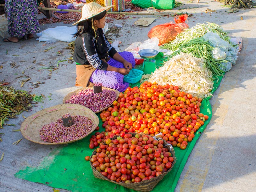
[[[80,115],[91,119],[93,122],[92,130],[76,140],[71,140],[67,142],[50,143],[41,140],[39,130],[44,125],[57,121],[59,118],[62,117],[62,115],[65,115],[67,113],[70,113],[72,116]],[[72,143],[85,138],[87,135],[92,133],[98,125],[99,118],[98,116],[96,116],[95,113],[93,113],[92,110],[77,104],[60,104],[38,111],[26,118],[21,125],[20,132],[24,138],[35,143],[44,145],[60,145]]]

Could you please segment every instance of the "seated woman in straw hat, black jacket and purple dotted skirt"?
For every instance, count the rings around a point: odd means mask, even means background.
[[[129,83],[123,82],[123,78],[135,66],[133,54],[118,53],[102,30],[107,10],[111,7],[87,3],[82,8],[81,19],[73,24],[77,24],[77,33],[74,34],[76,86],[91,86],[90,82],[102,83],[102,86],[120,92],[129,86]]]

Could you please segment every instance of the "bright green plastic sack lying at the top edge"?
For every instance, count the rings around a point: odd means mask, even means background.
[[[132,4],[141,8],[173,9],[175,2],[174,0],[132,0]]]

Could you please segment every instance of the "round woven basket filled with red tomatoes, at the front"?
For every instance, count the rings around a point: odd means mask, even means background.
[[[90,156],[96,178],[141,192],[153,190],[175,162],[172,145],[139,133],[108,138]]]

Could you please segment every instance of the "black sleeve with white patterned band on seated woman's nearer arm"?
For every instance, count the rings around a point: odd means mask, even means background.
[[[96,69],[107,70],[108,64],[100,60],[96,51],[94,37],[82,37],[82,48],[89,63]]]

